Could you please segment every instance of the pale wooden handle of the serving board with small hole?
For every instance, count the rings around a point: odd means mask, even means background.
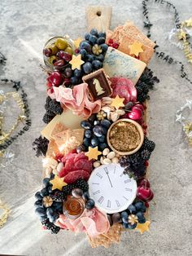
[[[98,32],[107,31],[111,23],[112,7],[89,6],[86,7],[87,29],[98,29]]]

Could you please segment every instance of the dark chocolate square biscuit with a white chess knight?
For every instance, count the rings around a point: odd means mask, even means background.
[[[83,82],[88,84],[89,95],[92,101],[110,96],[112,93],[110,81],[103,68],[83,77]]]

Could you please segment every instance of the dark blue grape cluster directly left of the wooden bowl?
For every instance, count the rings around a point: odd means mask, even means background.
[[[111,121],[103,119],[98,121],[96,115],[89,117],[88,121],[81,121],[81,127],[85,129],[83,146],[85,150],[89,147],[97,147],[103,151],[107,148],[107,130],[111,126]],[[78,150],[79,148],[77,148]]]

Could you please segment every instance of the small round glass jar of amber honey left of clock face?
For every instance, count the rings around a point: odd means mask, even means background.
[[[79,197],[68,196],[63,202],[63,213],[72,219],[79,218],[85,209],[85,201]]]

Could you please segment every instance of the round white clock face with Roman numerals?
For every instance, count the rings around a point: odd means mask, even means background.
[[[107,214],[127,209],[136,197],[137,183],[123,171],[117,164],[103,165],[95,168],[89,177],[89,196]]]

